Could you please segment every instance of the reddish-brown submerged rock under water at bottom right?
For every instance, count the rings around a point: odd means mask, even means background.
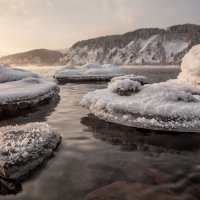
[[[198,180],[199,181],[199,180]],[[200,184],[188,182],[148,185],[144,183],[116,181],[88,194],[85,200],[195,200],[200,198]]]

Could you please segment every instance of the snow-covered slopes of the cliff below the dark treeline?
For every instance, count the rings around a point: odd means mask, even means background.
[[[123,45],[123,44],[122,44]],[[174,39],[165,34],[154,34],[148,38],[133,38],[126,45],[103,45],[104,49],[95,45],[72,47],[64,55],[64,63],[83,65],[86,63],[126,64],[180,64],[182,56],[187,52],[190,42],[184,38]]]

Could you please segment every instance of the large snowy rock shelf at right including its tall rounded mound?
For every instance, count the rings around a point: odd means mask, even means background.
[[[138,85],[111,82],[107,89],[86,94],[81,102],[100,119],[142,128],[200,128],[200,45],[184,57],[176,80]],[[114,82],[115,83],[115,82]],[[113,89],[114,88],[114,89]],[[116,92],[132,90],[128,95]],[[130,95],[130,96],[129,96]]]

